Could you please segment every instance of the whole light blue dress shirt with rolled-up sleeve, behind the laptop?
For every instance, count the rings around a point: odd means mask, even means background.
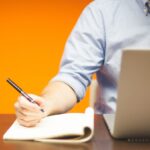
[[[91,2],[68,38],[53,81],[68,84],[81,100],[96,73],[101,92],[95,111],[114,112],[122,50],[150,48],[150,15],[144,9],[145,0]]]

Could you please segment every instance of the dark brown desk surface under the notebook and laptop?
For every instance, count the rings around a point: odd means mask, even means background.
[[[0,150],[149,150],[150,143],[129,143],[113,139],[103,117],[95,115],[95,134],[88,143],[78,145],[49,144],[33,141],[3,141],[2,136],[15,120],[15,115],[0,115]]]

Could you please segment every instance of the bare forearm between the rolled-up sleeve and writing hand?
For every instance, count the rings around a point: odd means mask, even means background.
[[[46,101],[45,111],[47,115],[64,113],[77,102],[76,95],[71,87],[61,81],[48,84],[41,96]]]

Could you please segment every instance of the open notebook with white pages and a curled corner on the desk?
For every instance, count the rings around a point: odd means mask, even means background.
[[[34,140],[50,143],[82,143],[93,137],[94,111],[67,113],[44,118],[35,127],[23,127],[15,121],[3,135],[4,140]]]

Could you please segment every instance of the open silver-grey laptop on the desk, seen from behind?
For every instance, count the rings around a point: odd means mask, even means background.
[[[105,114],[117,139],[150,139],[150,50],[124,50],[115,114]]]

